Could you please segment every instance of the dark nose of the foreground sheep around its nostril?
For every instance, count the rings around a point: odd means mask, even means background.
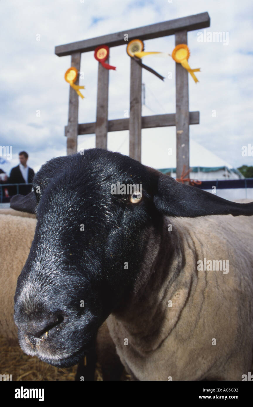
[[[57,325],[63,322],[63,316],[59,314],[49,315],[48,317],[36,321],[36,323],[30,323],[26,330],[26,335],[32,344],[36,344],[41,336],[47,337],[48,332]]]

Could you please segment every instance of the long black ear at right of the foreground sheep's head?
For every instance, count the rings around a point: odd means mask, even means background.
[[[206,215],[253,215],[253,202],[239,204],[227,201],[194,186],[177,182],[159,171],[147,169],[153,180],[155,206],[168,216],[194,218]]]

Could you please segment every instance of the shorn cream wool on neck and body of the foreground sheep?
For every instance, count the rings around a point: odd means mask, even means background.
[[[252,225],[232,215],[165,218],[162,234],[150,233],[135,294],[107,319],[134,379],[242,380],[253,371]],[[197,271],[204,258],[229,260],[228,274]]]

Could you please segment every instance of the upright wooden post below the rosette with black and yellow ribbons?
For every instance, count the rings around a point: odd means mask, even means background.
[[[142,67],[131,58],[129,157],[142,159]]]

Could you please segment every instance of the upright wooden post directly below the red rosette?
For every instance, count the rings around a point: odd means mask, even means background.
[[[109,63],[107,59],[106,63]],[[98,62],[96,148],[107,149],[109,69]]]

